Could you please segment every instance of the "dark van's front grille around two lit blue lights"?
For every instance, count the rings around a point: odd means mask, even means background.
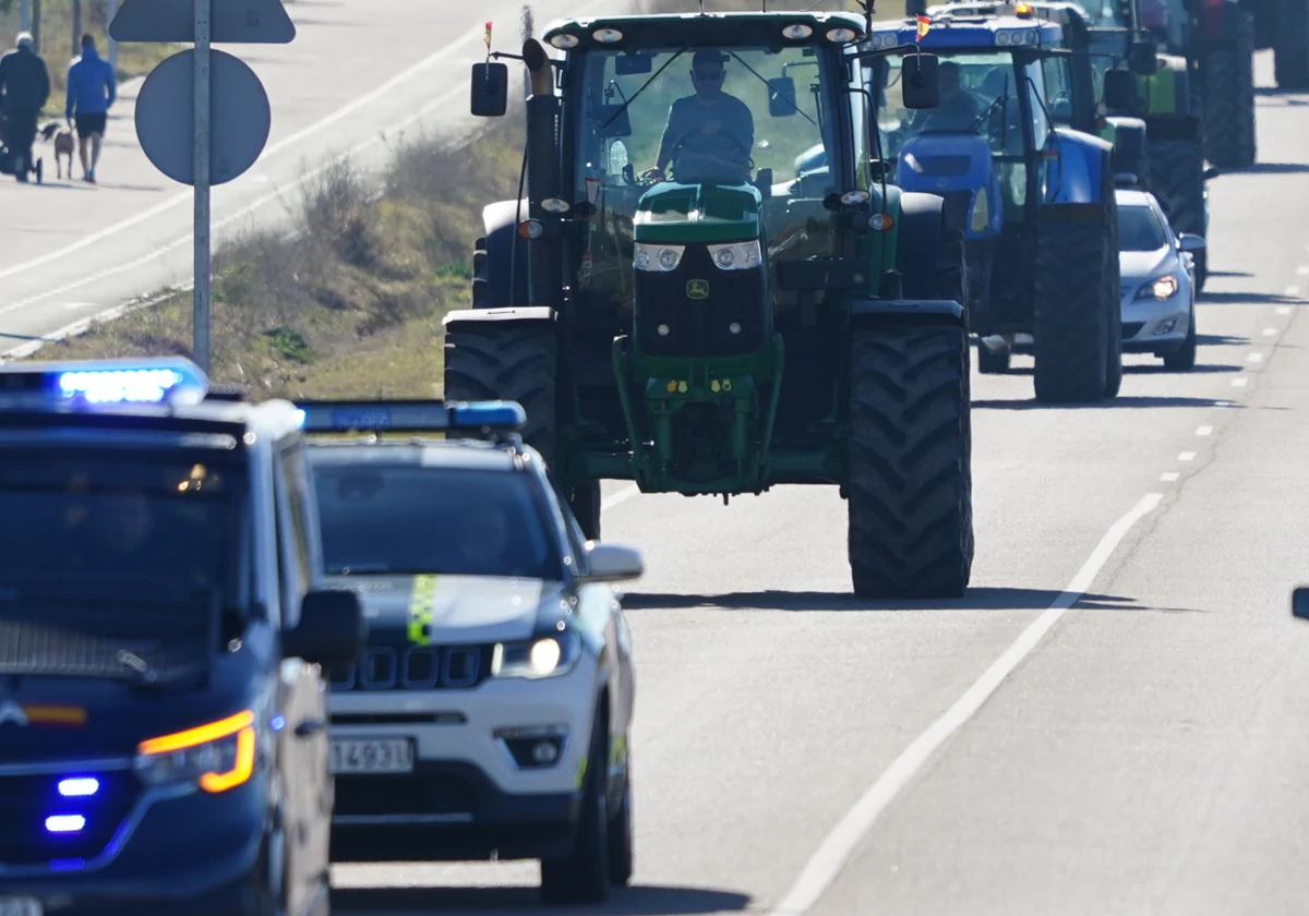
[[[0,776],[0,864],[45,865],[105,851],[136,803],[140,784],[127,771],[96,773],[96,794],[64,798],[59,783],[73,775]],[[46,819],[58,815],[80,815],[85,824],[51,832]]]

